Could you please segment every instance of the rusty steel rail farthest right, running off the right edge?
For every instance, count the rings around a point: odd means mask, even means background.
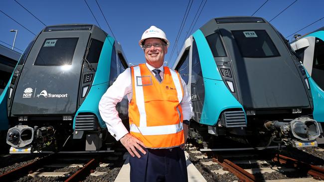
[[[324,180],[324,168],[320,168],[318,166],[314,166],[311,164],[307,164],[301,161],[298,161],[296,159],[292,159],[280,154],[276,154],[275,157],[273,158],[273,161],[279,162],[281,164],[286,164],[286,165],[293,165],[295,168],[301,168],[308,170],[308,174],[314,176],[316,179],[321,179]]]

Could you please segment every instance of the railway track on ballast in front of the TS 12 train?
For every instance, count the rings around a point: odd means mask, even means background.
[[[201,172],[207,182],[244,181],[262,182],[282,181],[317,181],[324,178],[323,160],[316,166],[301,160],[276,154],[278,151],[268,149],[252,152],[205,152],[188,151],[190,160]],[[296,152],[296,151],[294,151]],[[307,153],[305,153],[305,156]],[[315,158],[316,160],[316,158]]]

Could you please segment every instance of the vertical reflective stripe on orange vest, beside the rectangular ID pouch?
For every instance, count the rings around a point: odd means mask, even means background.
[[[135,80],[134,84],[135,84],[136,105],[139,108],[139,112],[140,112],[140,127],[146,127],[146,112],[145,112],[145,105],[144,105],[144,92],[142,86],[141,69],[140,66],[135,66],[133,68],[134,68],[134,80]]]

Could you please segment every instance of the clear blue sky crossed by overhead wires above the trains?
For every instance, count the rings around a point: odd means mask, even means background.
[[[66,23],[97,24],[84,0],[16,1],[32,12],[46,25]],[[101,28],[111,34],[96,0],[86,1],[97,18]],[[183,41],[186,38],[185,35],[189,31],[190,24],[194,20],[193,18],[201,3],[201,0],[192,1],[179,41],[175,45],[175,39],[189,0],[97,1],[116,39],[121,43],[130,63],[138,64],[145,62],[143,50],[139,47],[138,41],[141,39],[142,33],[146,29],[151,25],[155,25],[166,33],[166,36],[170,41],[168,54],[165,57],[165,61],[170,60],[170,65],[175,61],[177,51],[181,50]],[[205,0],[202,1],[202,4],[204,4]],[[265,1],[266,0],[207,0],[192,32],[215,17],[251,16]],[[262,8],[254,14],[254,16],[264,17],[269,21],[294,1],[295,0],[268,0]],[[279,16],[273,19],[271,23],[286,37],[324,17],[323,7],[324,0],[297,0]],[[37,34],[44,28],[44,25],[41,22],[30,15],[14,0],[1,0],[0,10],[28,28],[34,34]],[[10,29],[18,30],[15,47],[21,50],[24,50],[27,44],[35,36],[2,12],[0,12],[0,22],[0,44],[4,46],[10,47],[9,45],[12,45],[14,32],[10,32]],[[324,18],[298,33],[303,35],[322,26],[324,26]],[[292,36],[287,39],[291,40]],[[6,45],[3,42],[9,45]],[[175,52],[170,58],[173,46],[176,46]],[[21,52],[19,50],[17,51]]]

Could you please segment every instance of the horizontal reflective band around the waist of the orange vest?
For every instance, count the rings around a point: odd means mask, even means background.
[[[134,123],[131,124],[130,130],[134,133],[141,133],[142,135],[166,135],[178,133],[182,130],[182,123],[164,125],[164,126],[146,126],[137,127]]]

